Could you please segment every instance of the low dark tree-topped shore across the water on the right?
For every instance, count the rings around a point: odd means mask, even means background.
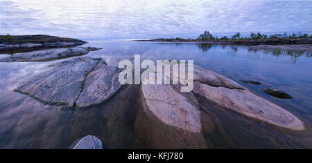
[[[293,33],[288,35],[286,32],[275,35],[261,34],[260,32],[251,33],[250,37],[242,37],[240,32],[237,32],[232,37],[216,37],[213,36],[209,31],[205,31],[197,39],[183,39],[180,37],[175,38],[160,38],[160,39],[140,39],[135,41],[156,41],[156,42],[196,42],[200,44],[222,44],[222,45],[244,45],[252,46],[252,48],[259,49],[281,49],[281,50],[299,50],[299,51],[310,51],[312,50],[312,35],[297,34]]]

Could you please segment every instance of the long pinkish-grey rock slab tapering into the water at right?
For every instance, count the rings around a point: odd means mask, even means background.
[[[284,108],[251,93],[250,90],[213,87],[198,82],[193,92],[248,117],[291,130],[304,130],[300,119]]]

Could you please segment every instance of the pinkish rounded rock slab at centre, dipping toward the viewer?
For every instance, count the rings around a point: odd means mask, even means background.
[[[142,98],[151,113],[164,124],[200,133],[200,112],[196,98],[191,94],[182,95],[173,85],[143,85]]]

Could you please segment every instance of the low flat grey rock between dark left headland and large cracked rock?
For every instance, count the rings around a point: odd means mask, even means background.
[[[68,57],[75,57],[87,55],[90,51],[99,50],[101,48],[93,47],[75,47],[75,48],[55,48],[47,50],[38,50],[33,52],[17,53],[10,57],[0,59],[0,62],[11,61],[51,61],[56,59],[64,59]]]

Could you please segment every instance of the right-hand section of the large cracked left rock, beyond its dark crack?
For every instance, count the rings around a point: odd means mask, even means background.
[[[83,91],[76,101],[76,106],[87,107],[101,104],[110,99],[121,88],[119,73],[118,68],[107,66],[105,61],[101,61],[85,80]]]

